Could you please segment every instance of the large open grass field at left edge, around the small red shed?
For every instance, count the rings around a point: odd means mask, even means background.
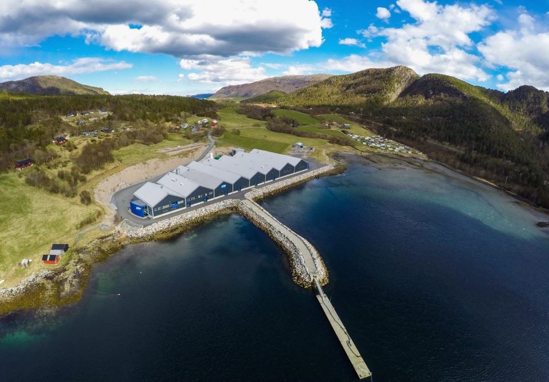
[[[66,198],[29,186],[18,175],[19,171],[0,175],[0,280],[6,280],[2,286],[41,267],[52,267],[42,264],[42,254],[49,253],[54,242],[72,246],[77,224],[100,211],[93,204],[81,204],[78,197]],[[23,258],[32,259],[31,266],[13,269]]]

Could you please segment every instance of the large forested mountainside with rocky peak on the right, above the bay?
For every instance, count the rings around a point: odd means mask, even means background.
[[[353,115],[469,174],[549,207],[549,93],[503,93],[406,67],[333,76],[272,100]],[[313,109],[314,110],[314,109]]]

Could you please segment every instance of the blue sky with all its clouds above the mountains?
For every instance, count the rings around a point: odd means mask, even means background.
[[[406,65],[549,91],[549,0],[3,0],[0,81],[192,95]]]

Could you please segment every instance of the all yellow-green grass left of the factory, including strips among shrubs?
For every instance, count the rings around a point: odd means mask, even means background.
[[[91,139],[91,137],[83,136],[72,138],[71,141],[76,144],[77,149],[70,153],[63,146],[58,147],[52,144],[49,148],[55,150],[60,157],[55,158],[54,162],[50,163],[54,164],[53,168],[47,169],[44,165],[40,168],[52,178],[57,178],[57,171],[60,169],[70,170],[72,167],[71,158],[74,158],[86,142]],[[132,164],[145,162],[152,158],[168,157],[167,154],[158,152],[163,148],[184,146],[191,142],[185,139],[182,134],[170,133],[168,139],[156,145],[146,146],[135,143],[116,150],[113,153],[115,162],[105,165],[101,170],[86,174],[87,180],[79,184],[79,192],[80,190],[92,191],[98,182]],[[41,254],[49,253],[49,247],[52,243],[66,242],[72,247],[77,240],[78,229],[76,227],[82,220],[93,216],[98,219],[92,224],[101,221],[103,209],[97,204],[92,203],[85,206],[80,203],[78,196],[68,198],[61,194],[27,185],[24,175],[27,171],[32,170],[35,170],[35,167],[23,171],[13,170],[0,175],[0,197],[4,203],[2,219],[0,219],[0,240],[2,241],[2,246],[0,246],[0,280],[5,279],[2,286],[11,285],[42,267],[54,267],[54,265],[42,264],[40,261]],[[104,232],[102,233],[96,229],[86,235],[98,236],[100,234],[104,234]],[[82,239],[79,245],[84,241]],[[31,267],[27,269],[14,268],[23,258],[33,260]],[[69,256],[64,256],[61,262],[68,261],[68,259]]]

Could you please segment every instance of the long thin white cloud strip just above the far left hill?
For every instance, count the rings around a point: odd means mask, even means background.
[[[96,57],[85,57],[74,60],[65,65],[35,62],[32,64],[2,65],[0,67],[0,79],[20,80],[36,75],[60,75],[94,73],[97,71],[129,69],[132,64],[124,61],[114,62]]]

